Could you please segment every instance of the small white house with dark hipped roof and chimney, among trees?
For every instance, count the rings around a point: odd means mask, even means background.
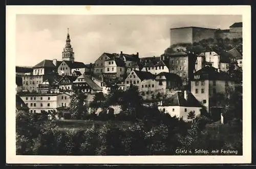
[[[160,111],[170,114],[170,116],[176,116],[177,118],[183,118],[188,121],[188,113],[190,111],[195,112],[195,117],[200,115],[200,109],[202,105],[195,98],[195,96],[187,91],[177,91],[168,101],[158,106]]]

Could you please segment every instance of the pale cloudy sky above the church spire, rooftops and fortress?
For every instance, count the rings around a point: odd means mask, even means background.
[[[170,28],[228,29],[241,15],[16,15],[16,65],[61,60],[67,29],[75,61],[93,63],[102,53],[160,56]]]

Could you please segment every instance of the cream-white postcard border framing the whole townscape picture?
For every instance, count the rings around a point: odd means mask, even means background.
[[[243,15],[243,156],[16,156],[15,24],[16,14],[226,14]],[[251,162],[251,8],[250,6],[6,6],[6,162],[186,164]],[[172,16],[170,16],[172,17]]]

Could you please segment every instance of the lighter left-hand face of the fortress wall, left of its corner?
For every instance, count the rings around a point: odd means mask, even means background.
[[[170,29],[170,45],[177,43],[193,43],[192,28]]]

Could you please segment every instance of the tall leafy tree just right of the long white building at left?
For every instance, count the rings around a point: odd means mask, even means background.
[[[84,93],[80,91],[75,92],[70,102],[70,112],[72,118],[82,119],[84,117],[84,115],[88,112],[86,101],[87,95],[84,95]]]

